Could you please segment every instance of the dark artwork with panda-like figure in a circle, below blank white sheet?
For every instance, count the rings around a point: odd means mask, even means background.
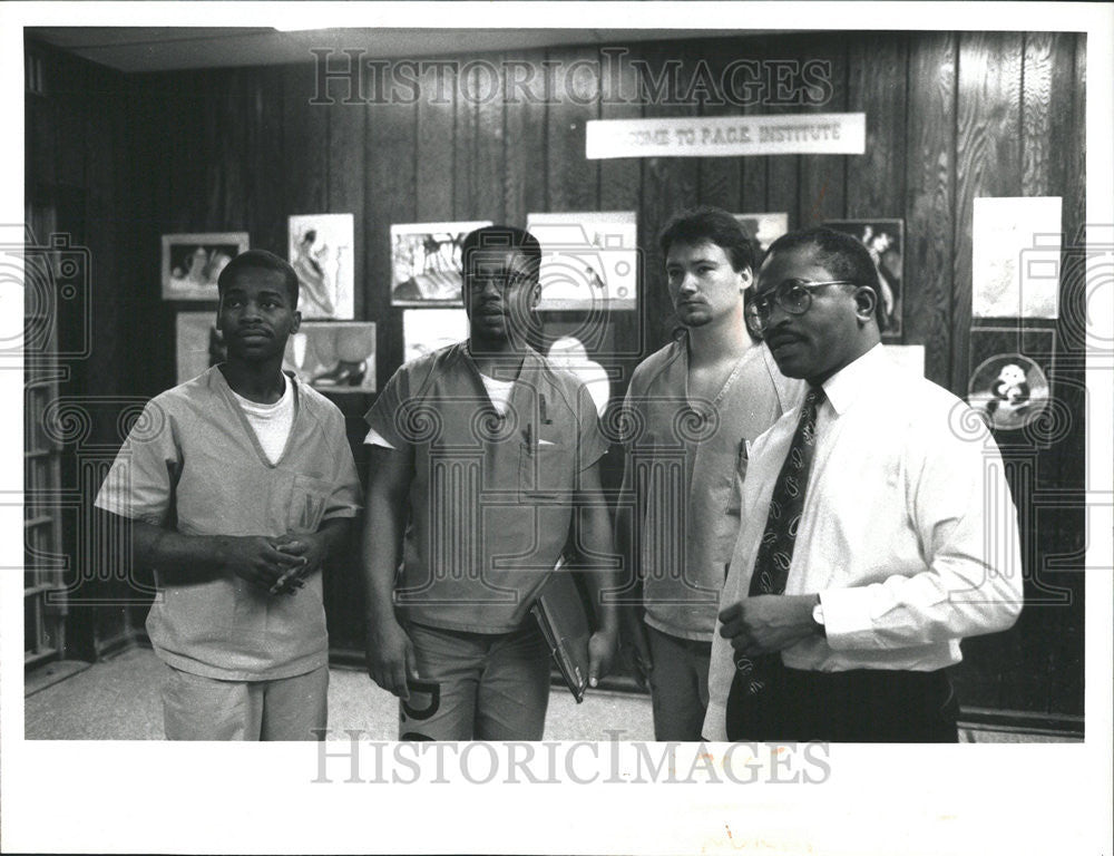
[[[1055,330],[973,328],[967,403],[996,430],[1024,428],[1052,397],[1055,343]]]

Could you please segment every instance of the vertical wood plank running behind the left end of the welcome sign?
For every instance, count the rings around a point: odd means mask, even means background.
[[[587,48],[555,48],[553,86],[546,117],[546,186],[549,211],[595,211],[599,162],[584,156],[585,127],[599,115],[598,55]]]

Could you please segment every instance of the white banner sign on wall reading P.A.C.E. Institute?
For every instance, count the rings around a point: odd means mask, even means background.
[[[593,119],[586,156],[737,157],[740,155],[861,155],[867,114],[693,116],[666,119]]]

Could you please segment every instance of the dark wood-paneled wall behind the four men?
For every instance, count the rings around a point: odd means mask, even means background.
[[[354,43],[352,48],[360,46]],[[785,211],[790,226],[840,217],[906,223],[903,342],[926,347],[926,374],[966,395],[971,324],[971,213],[978,196],[1064,197],[1064,232],[1084,223],[1084,37],[1073,33],[824,33],[625,47],[615,75],[590,71],[597,47],[482,57],[534,71],[517,103],[462,97],[488,86],[475,67],[446,76],[448,98],[414,104],[313,104],[312,64],[141,75],[128,78],[120,125],[87,128],[123,146],[117,204],[96,216],[127,240],[116,265],[126,309],[106,313],[106,347],[144,354],[114,373],[91,370],[90,391],[154,395],[174,382],[174,314],[197,305],[158,298],[159,235],[246,230],[252,245],[285,254],[292,214],[352,212],[356,223],[356,318],[379,324],[380,388],[402,358],[401,311],[390,305],[392,223],[490,218],[525,225],[528,212],[634,210],[643,251],[637,313],[613,323],[626,358],[597,359],[625,387],[636,354],[659,347],[674,327],[655,236],[675,211],[700,203],[736,212]],[[461,56],[463,62],[477,57]],[[717,105],[685,98],[706,64],[713,77],[734,59],[825,59],[831,98],[808,108]],[[334,67],[344,60],[334,56]],[[574,67],[576,60],[589,66]],[[642,70],[632,60],[643,62]],[[676,75],[665,74],[680,60]],[[576,70],[574,70],[574,68]],[[589,70],[585,70],[588,68]],[[549,77],[547,78],[547,75]],[[664,75],[664,76],[663,76]],[[566,79],[569,76],[569,79]],[[668,97],[620,103],[619,93],[661,78]],[[364,69],[362,95],[374,79]],[[500,78],[500,93],[511,89]],[[575,98],[567,94],[575,94]],[[585,124],[594,118],[862,110],[862,156],[645,158],[589,162]],[[57,121],[68,121],[57,116]],[[97,146],[100,143],[89,143]],[[1074,303],[1073,303],[1074,301]],[[1078,305],[1065,288],[1063,304]],[[1054,385],[1078,416],[1085,408],[1082,340],[1062,321]],[[106,363],[116,366],[119,359]],[[355,442],[368,400],[338,399]],[[1077,421],[1039,451],[1036,486],[1083,484]],[[1015,490],[1017,486],[1015,485]],[[1082,510],[1043,512],[1027,573],[1067,591],[1071,604],[1033,606],[1008,634],[968,643],[960,682],[967,703],[1037,712],[1082,712]],[[1082,555],[1082,554],[1081,554]],[[1045,567],[1056,556],[1062,570]],[[330,606],[334,641],[358,649],[358,607]]]

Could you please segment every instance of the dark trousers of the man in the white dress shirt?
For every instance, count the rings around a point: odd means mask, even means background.
[[[727,739],[843,743],[955,743],[959,703],[945,669],[809,672],[780,658],[766,687],[747,693],[739,674],[727,697]]]

